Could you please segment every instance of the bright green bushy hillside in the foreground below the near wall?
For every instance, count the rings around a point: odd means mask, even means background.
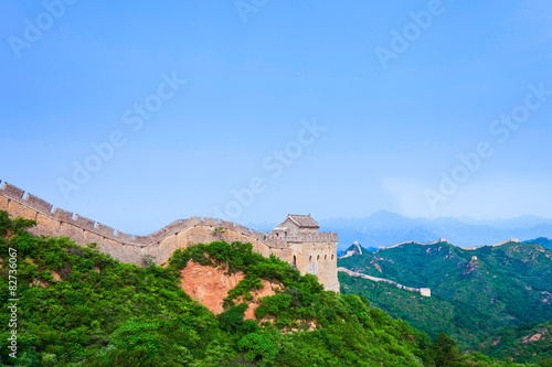
[[[0,314],[0,361],[19,366],[500,366],[463,355],[445,334],[432,342],[365,298],[323,291],[248,244],[213,242],[176,251],[166,267],[139,268],[92,244],[35,237],[32,220],[0,212],[2,310],[10,251],[17,251],[18,358],[9,356],[9,315]],[[11,249],[11,250],[10,250]],[[245,278],[213,314],[181,289],[189,261]],[[283,285],[244,320],[261,280]],[[241,302],[244,300],[245,302]]]

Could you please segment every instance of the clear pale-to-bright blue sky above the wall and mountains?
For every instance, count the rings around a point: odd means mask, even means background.
[[[135,234],[190,216],[550,218],[551,14],[2,1],[0,180]]]

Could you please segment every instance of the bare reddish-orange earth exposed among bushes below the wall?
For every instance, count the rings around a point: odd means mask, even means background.
[[[193,299],[205,305],[213,313],[219,314],[224,311],[224,298],[229,291],[237,285],[245,278],[243,272],[227,274],[227,268],[213,268],[200,263],[188,261],[187,267],[180,272],[180,287]],[[263,289],[253,291],[253,300],[248,301],[245,319],[255,317],[255,309],[263,296],[276,294],[282,285],[262,280]],[[237,300],[240,301],[240,300]]]

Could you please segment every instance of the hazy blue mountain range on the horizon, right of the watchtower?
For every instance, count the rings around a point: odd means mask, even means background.
[[[321,230],[339,234],[339,248],[358,240],[368,247],[388,247],[404,241],[433,242],[446,238],[460,247],[497,244],[510,238],[552,238],[552,219],[521,216],[512,219],[477,220],[439,217],[406,218],[391,212],[378,212],[365,218],[319,220]]]

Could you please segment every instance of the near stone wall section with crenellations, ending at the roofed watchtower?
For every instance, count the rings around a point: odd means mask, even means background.
[[[1,183],[1,181],[0,181]],[[269,257],[275,255],[296,267],[301,274],[318,277],[326,290],[339,292],[337,277],[336,233],[319,233],[309,216],[288,215],[272,233],[259,233],[240,224],[209,217],[176,220],[147,236],[116,230],[102,223],[73,214],[9,183],[0,190],[0,211],[12,217],[36,220],[30,231],[35,235],[68,237],[77,245],[96,242],[98,250],[121,262],[142,266],[151,259],[164,263],[179,248],[192,244],[225,240],[250,242],[253,250]]]

